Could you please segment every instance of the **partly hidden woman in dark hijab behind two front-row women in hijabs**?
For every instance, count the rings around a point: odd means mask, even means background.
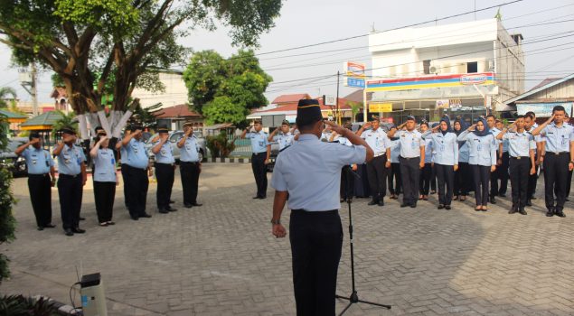
[[[456,137],[458,137],[468,128],[468,124],[462,118],[456,118],[453,127]],[[469,150],[468,142],[458,142],[458,170],[455,172],[455,198],[453,200],[460,200],[461,202],[465,201],[468,192],[472,191],[471,183],[474,182],[472,181],[473,174],[468,166]]]

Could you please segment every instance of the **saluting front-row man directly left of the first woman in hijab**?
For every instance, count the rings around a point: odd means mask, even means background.
[[[408,116],[407,121],[397,131],[389,131],[388,136],[397,136],[400,140],[400,172],[402,173],[403,198],[401,208],[417,207],[419,200],[419,173],[425,166],[425,142],[415,128],[417,121],[414,116]],[[403,127],[407,129],[402,130]]]

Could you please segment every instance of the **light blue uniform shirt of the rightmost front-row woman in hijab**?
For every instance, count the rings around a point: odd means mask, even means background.
[[[459,142],[468,142],[468,164],[476,164],[481,166],[494,166],[496,165],[496,149],[498,144],[491,134],[485,136],[478,136],[475,133],[464,131],[458,135]]]

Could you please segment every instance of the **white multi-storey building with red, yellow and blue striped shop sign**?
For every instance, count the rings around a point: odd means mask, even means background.
[[[522,35],[509,34],[497,19],[375,32],[369,50],[370,104],[391,103],[391,117],[400,121],[432,120],[445,110],[508,110],[503,101],[524,91]]]

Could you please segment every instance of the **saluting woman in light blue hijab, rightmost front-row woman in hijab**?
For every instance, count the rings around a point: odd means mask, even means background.
[[[470,133],[470,132],[473,133]],[[496,170],[496,147],[494,136],[489,132],[485,117],[458,135],[459,142],[468,142],[468,164],[475,177],[476,211],[487,210],[490,173]]]

